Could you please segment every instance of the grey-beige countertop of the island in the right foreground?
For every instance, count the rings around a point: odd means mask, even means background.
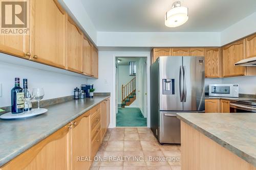
[[[255,113],[178,113],[177,117],[256,166]]]

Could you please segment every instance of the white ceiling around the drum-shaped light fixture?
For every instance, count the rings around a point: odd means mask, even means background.
[[[188,21],[164,26],[164,14],[174,0],[81,0],[97,31],[221,32],[256,12],[256,0],[181,0]]]

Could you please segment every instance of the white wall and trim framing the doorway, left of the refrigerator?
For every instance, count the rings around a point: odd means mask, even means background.
[[[94,84],[97,92],[111,92],[110,106],[110,127],[116,126],[116,104],[113,96],[116,95],[115,89],[115,57],[147,57],[147,63],[150,63],[150,52],[114,52],[114,51],[99,51],[99,79],[88,79],[88,83]],[[147,72],[150,71],[150,64],[147,65]],[[147,87],[150,89],[150,75],[147,74]],[[150,91],[147,90],[147,95],[150,96]],[[150,99],[147,99],[147,113],[150,113]],[[150,116],[147,115],[147,126],[150,127]]]

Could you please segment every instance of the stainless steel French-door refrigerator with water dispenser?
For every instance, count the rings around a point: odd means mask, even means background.
[[[160,143],[180,143],[178,112],[204,112],[204,57],[159,57],[151,65],[151,129]]]

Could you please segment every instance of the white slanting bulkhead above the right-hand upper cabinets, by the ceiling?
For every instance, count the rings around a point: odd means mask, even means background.
[[[221,45],[256,32],[256,12],[234,23],[221,32]]]

